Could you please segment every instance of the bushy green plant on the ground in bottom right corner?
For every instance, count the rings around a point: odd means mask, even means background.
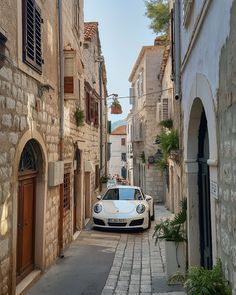
[[[221,261],[213,269],[191,267],[184,282],[188,295],[231,295],[232,290],[225,280]]]

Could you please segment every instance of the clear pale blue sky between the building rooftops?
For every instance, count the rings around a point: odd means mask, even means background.
[[[139,52],[142,46],[153,45],[155,39],[144,0],[84,0],[84,19],[99,23],[108,94],[128,96],[128,79]],[[111,115],[109,109],[112,122],[126,118],[130,110],[129,98],[120,99],[120,103],[121,115]]]

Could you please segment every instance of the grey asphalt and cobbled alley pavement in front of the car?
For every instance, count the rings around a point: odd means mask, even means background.
[[[170,216],[155,207],[150,230],[98,231],[88,224],[28,295],[182,295],[180,286],[166,283],[163,242],[155,245],[153,227]]]

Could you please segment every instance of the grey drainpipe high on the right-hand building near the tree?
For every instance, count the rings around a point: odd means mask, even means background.
[[[180,73],[180,2],[175,0],[174,4],[174,26],[175,26],[175,99],[181,96],[181,73]]]

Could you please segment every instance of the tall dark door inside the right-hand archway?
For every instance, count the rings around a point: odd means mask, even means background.
[[[198,194],[199,194],[199,231],[201,265],[212,268],[212,235],[210,177],[207,161],[209,159],[209,137],[207,119],[203,109],[198,134]]]

